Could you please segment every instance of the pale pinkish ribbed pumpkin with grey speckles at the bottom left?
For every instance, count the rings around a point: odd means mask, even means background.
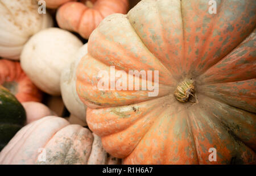
[[[0,153],[0,164],[108,164],[108,154],[88,128],[47,116],[16,133]]]

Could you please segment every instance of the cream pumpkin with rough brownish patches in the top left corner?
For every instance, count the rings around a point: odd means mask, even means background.
[[[0,1],[0,57],[19,60],[27,40],[36,32],[52,27],[51,16],[39,14],[35,0]]]

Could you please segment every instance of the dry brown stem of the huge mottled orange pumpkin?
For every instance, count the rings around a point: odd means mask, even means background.
[[[189,97],[195,97],[195,82],[192,79],[186,79],[183,82],[180,82],[174,92],[174,96],[179,102],[188,102]]]

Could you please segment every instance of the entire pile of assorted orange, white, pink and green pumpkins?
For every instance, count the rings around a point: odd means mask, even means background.
[[[256,2],[216,3],[1,0],[0,164],[255,164]],[[97,89],[110,66],[159,70],[159,94]]]

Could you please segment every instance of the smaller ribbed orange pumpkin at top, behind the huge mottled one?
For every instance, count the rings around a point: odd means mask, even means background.
[[[67,2],[57,10],[56,19],[60,28],[78,32],[88,39],[102,19],[114,13],[126,14],[128,6],[128,0]]]

